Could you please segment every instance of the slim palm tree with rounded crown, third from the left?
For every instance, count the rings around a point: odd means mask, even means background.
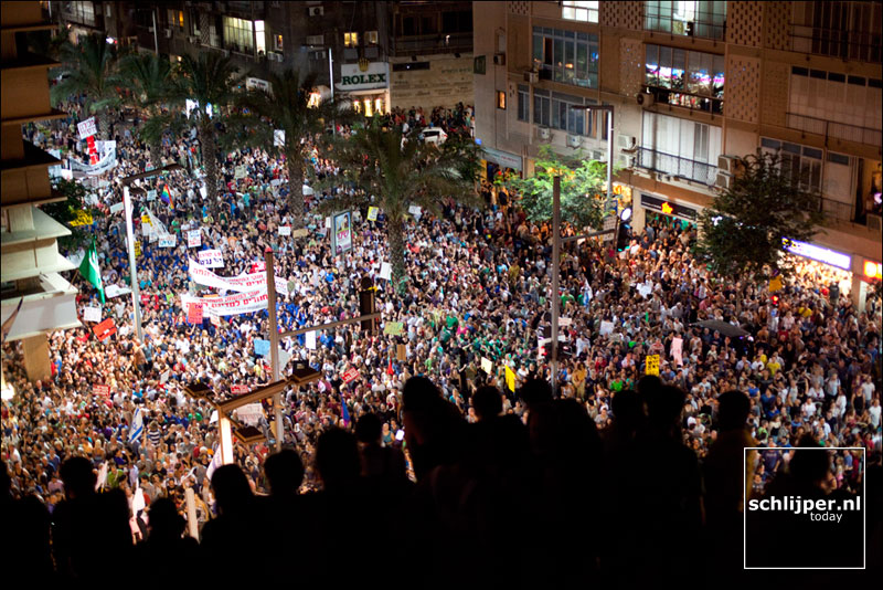
[[[230,57],[216,52],[202,52],[194,59],[184,55],[178,65],[174,85],[170,96],[179,104],[184,99],[194,101],[196,108],[191,116],[196,122],[202,161],[205,167],[205,187],[210,207],[217,213],[217,130],[215,112],[225,113],[236,98],[236,88],[242,75]],[[211,105],[211,107],[209,106]],[[220,110],[215,110],[220,109]],[[212,110],[213,114],[206,113]]]

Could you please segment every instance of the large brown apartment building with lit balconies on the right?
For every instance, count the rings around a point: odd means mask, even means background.
[[[880,274],[879,2],[475,2],[476,137],[492,167],[532,173],[543,144],[606,159],[634,226],[688,222],[773,150],[822,196],[802,254],[836,261],[863,305]]]

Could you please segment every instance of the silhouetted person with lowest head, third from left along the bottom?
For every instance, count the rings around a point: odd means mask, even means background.
[[[139,563],[162,563],[139,571],[137,586],[156,588],[168,580],[181,580],[193,571],[199,559],[196,539],[184,536],[187,520],[178,514],[171,498],[157,498],[148,510],[147,539],[138,544]]]

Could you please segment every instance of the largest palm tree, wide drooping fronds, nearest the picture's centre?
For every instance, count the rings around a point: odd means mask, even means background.
[[[323,202],[320,211],[370,204],[380,207],[386,215],[393,283],[398,295],[404,295],[408,208],[415,204],[442,217],[440,203],[445,199],[480,204],[475,190],[477,159],[474,145],[451,136],[442,148],[437,148],[419,140],[417,133],[403,135],[401,128],[384,127],[375,118],[349,139],[333,140],[330,148],[328,157],[358,190],[352,196]]]

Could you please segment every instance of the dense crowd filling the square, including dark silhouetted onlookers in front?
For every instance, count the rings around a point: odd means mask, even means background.
[[[76,114],[76,104],[68,112]],[[392,117],[457,133],[471,109]],[[25,133],[75,157],[74,122]],[[118,162],[109,186],[96,191],[105,215],[93,228],[106,291],[129,280],[125,220],[110,207],[120,200],[120,179],[149,159],[124,119],[111,134]],[[374,576],[384,563],[409,576],[432,572],[438,586],[456,581],[458,568],[494,584],[594,577],[628,586],[645,581],[628,566],[636,556],[672,576],[694,571],[677,551],[733,533],[742,477],[748,474],[748,493],[762,494],[786,470],[766,453],[749,455],[746,467],[722,455],[725,443],[864,447],[831,465],[844,493],[858,493],[863,470],[880,462],[881,301],[872,294],[860,312],[845,289],[832,297],[828,271],[816,263],[799,262],[774,302],[766,283],[710,273],[691,255],[695,229],[679,220],[648,220],[621,252],[595,240],[572,243],[560,294],[572,355],[561,360],[552,390],[539,346],[549,325],[551,228],[531,223],[508,194],[488,186],[483,210],[448,203],[440,219],[416,215],[407,229],[407,289],[396,296],[380,276],[389,261],[382,212],[376,221],[354,212],[353,247],[333,255],[320,217],[310,217],[306,238],[280,235],[289,224],[284,160],[259,149],[220,155],[224,206],[209,219],[195,135],[167,139],[163,154],[162,164],[183,169],[141,186],[167,183],[170,203],[141,206],[178,240],[172,247],[141,240],[143,338],[135,335],[129,296],[102,304],[72,277],[81,312],[100,307],[116,334],[98,340],[84,322],[50,335],[52,375],[35,382],[24,378],[20,351],[4,347],[4,378],[15,390],[2,405],[9,486],[17,498],[36,498],[60,527],[65,540],[53,537],[54,562],[64,577],[91,566],[71,531],[86,535],[77,518],[100,506],[107,523],[127,515],[125,530],[114,524],[114,534],[88,537],[109,548],[115,566],[113,556],[135,559],[123,554],[135,539],[142,559],[177,544],[199,561],[181,557],[172,568],[183,573],[199,562],[210,577],[227,576],[222,567],[266,525],[275,539],[266,567],[279,575],[291,567],[317,580],[343,579]],[[316,177],[339,171],[318,151],[311,165]],[[309,210],[328,197],[319,192]],[[136,234],[141,223],[136,214]],[[188,247],[187,232],[195,229],[201,245]],[[269,360],[256,340],[272,328],[266,310],[190,324],[182,295],[215,289],[191,281],[189,260],[201,249],[221,250],[224,266],[214,270],[237,276],[259,268],[267,247],[288,286],[279,296],[281,329],[359,315],[365,275],[377,286],[383,318],[374,334],[357,323],[286,338],[291,360],[284,372],[300,364],[321,372],[318,382],[285,393],[290,451],[240,444],[235,465],[219,467],[214,408],[183,388],[203,381],[226,397],[236,386],[268,382]],[[749,336],[698,327],[703,320]],[[390,323],[402,323],[402,333],[386,334]],[[643,377],[648,355],[659,355],[658,380]],[[742,393],[725,402],[732,391]],[[131,438],[136,413],[145,428]],[[265,402],[256,423],[269,440],[268,420]],[[114,491],[128,508],[96,499]],[[77,507],[78,498],[88,499]],[[22,515],[42,514],[29,506]],[[199,547],[180,539],[188,514],[195,515]],[[166,540],[150,545],[155,533]],[[300,557],[289,562],[289,550]],[[741,565],[741,554],[735,558]]]

